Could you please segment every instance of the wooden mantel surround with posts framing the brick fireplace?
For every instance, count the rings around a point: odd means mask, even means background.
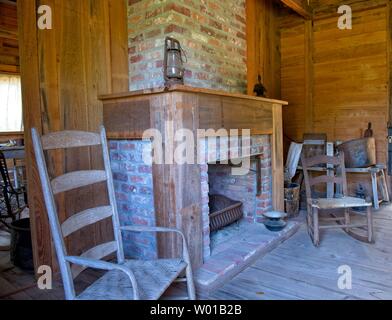
[[[141,139],[145,130],[250,129],[251,135],[272,137],[272,198],[274,210],[284,210],[282,107],[285,101],[182,85],[100,97],[108,139]],[[167,143],[164,137],[163,143]],[[153,165],[156,223],[181,229],[188,240],[194,268],[203,263],[200,166]],[[159,255],[176,256],[180,239],[158,238]]]

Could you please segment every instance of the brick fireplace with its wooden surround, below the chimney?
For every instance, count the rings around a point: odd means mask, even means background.
[[[121,222],[182,230],[195,270],[214,255],[208,216],[210,188],[242,201],[243,221],[248,225],[259,225],[264,211],[283,209],[281,109],[285,102],[187,86],[114,94],[102,96],[101,100]],[[168,129],[168,123],[173,130]],[[219,149],[214,159],[150,166],[141,161],[141,150],[146,145],[152,150],[148,145],[152,142],[142,140],[146,131],[161,133],[161,139],[154,139],[153,144],[166,149],[173,143],[171,132],[184,129],[198,142],[215,137],[219,144],[224,142],[218,134],[220,130],[237,131],[241,139],[249,134],[248,156],[234,152],[242,149],[244,142],[239,148],[229,140],[229,152]],[[201,132],[206,135],[201,136]],[[182,144],[175,140],[173,148],[166,150],[169,159]],[[206,154],[210,156],[209,149]],[[233,176],[231,169],[237,173],[239,170],[237,160],[249,158],[252,161],[244,165],[250,165],[250,171]],[[230,166],[225,164],[228,159]],[[255,171],[260,179],[256,179]],[[127,255],[136,258],[174,257],[181,251],[180,239],[171,234],[156,238],[127,235],[124,240]]]

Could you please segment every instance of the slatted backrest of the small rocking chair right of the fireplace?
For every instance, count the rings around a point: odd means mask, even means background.
[[[346,167],[344,164],[344,153],[341,152],[338,156],[315,156],[312,158],[305,158],[301,156],[301,162],[304,172],[306,197],[312,199],[312,187],[320,184],[333,184],[334,186],[340,185],[342,187],[343,196],[348,195],[347,191],[347,178],[346,178]],[[327,170],[328,165],[332,165],[333,168],[329,168],[333,172],[332,175],[318,175],[313,177],[312,167],[323,167]]]

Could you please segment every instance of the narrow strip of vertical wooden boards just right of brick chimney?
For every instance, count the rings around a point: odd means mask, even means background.
[[[280,99],[279,7],[275,0],[247,0],[246,9],[248,94],[261,75],[267,97]]]

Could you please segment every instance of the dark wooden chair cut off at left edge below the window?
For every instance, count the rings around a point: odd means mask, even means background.
[[[9,228],[9,222],[15,221],[18,214],[20,214],[26,207],[27,195],[23,186],[20,188],[14,188],[8,173],[7,161],[1,151],[0,174],[0,223]],[[21,197],[23,197],[23,201],[21,201]]]

